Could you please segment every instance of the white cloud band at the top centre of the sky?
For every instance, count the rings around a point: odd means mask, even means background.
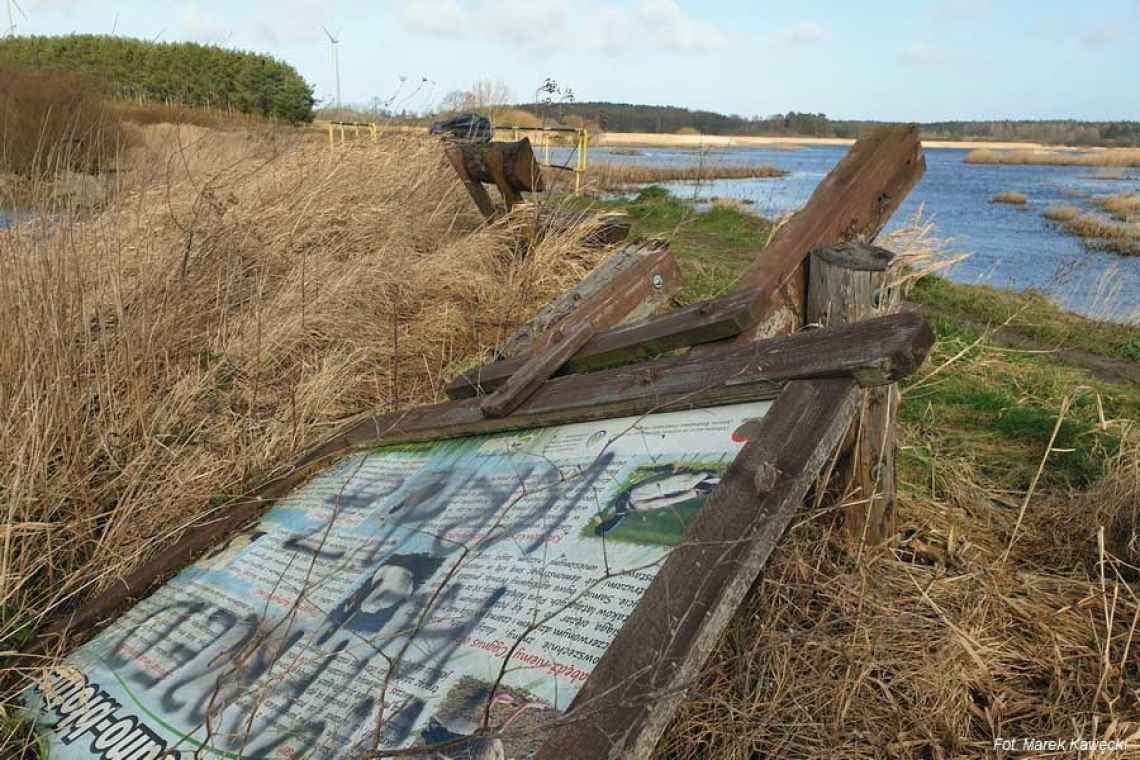
[[[405,30],[445,39],[475,36],[530,50],[588,48],[619,54],[658,48],[700,54],[727,40],[712,24],[686,15],[676,0],[635,0],[632,5],[576,6],[534,0],[405,0]]]

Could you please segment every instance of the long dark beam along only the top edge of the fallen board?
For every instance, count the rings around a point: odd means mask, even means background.
[[[546,427],[568,422],[774,399],[790,381],[854,377],[874,386],[905,377],[922,362],[934,333],[915,314],[893,314],[747,346],[718,346],[677,357],[555,377],[508,417],[486,418],[479,399],[445,401],[373,417],[325,446],[344,450]]]

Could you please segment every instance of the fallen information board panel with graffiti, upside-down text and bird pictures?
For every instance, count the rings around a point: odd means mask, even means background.
[[[529,757],[769,407],[348,456],[30,690],[51,757]]]

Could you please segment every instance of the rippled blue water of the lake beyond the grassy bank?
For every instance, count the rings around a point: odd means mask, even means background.
[[[714,196],[751,201],[758,213],[777,216],[800,207],[840,157],[842,146],[799,150],[727,148],[706,152],[642,148],[638,155],[591,150],[591,163],[612,161],[656,166],[692,166],[699,162],[730,165],[769,164],[788,170],[776,179],[669,182],[681,197]],[[552,163],[568,152],[552,150]],[[1083,205],[1083,197],[1140,189],[1140,170],[1119,180],[1094,179],[1084,166],[999,166],[962,163],[961,148],[928,148],[927,171],[895,213],[891,227],[922,206],[940,237],[972,255],[947,276],[958,283],[985,284],[1013,291],[1036,288],[1066,309],[1099,319],[1140,324],[1140,258],[1090,251],[1057,230],[1041,212],[1052,205]],[[1025,193],[1025,206],[990,203],[997,193]]]

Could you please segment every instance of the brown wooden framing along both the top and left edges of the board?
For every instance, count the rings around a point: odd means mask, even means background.
[[[700,358],[555,378],[544,383],[515,414],[503,418],[484,418],[479,399],[366,417],[303,453],[258,490],[205,515],[173,546],[116,579],[113,588],[97,595],[71,619],[49,627],[39,646],[47,649],[54,637],[68,627],[92,626],[111,615],[130,596],[142,593],[156,579],[176,572],[256,518],[318,468],[359,448],[774,399],[788,382],[811,377],[890,383],[913,371],[933,343],[934,334],[921,318],[895,314],[747,346],[725,345]]]

